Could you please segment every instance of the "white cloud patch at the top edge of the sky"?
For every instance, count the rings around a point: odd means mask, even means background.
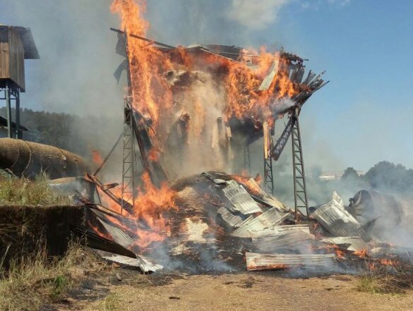
[[[232,0],[226,16],[248,28],[258,30],[274,23],[283,6],[291,0]]]

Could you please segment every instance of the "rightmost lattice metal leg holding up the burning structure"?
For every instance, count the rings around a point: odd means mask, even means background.
[[[300,125],[298,122],[298,111],[292,117],[293,129],[291,132],[291,141],[293,146],[293,183],[294,183],[294,207],[295,215],[297,210],[306,209],[309,214],[309,204],[307,200],[306,176],[304,171],[303,149],[301,145]]]

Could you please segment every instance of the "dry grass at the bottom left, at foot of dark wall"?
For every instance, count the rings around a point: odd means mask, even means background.
[[[76,284],[104,267],[101,260],[77,242],[71,242],[63,258],[47,258],[40,249],[13,260],[0,279],[0,310],[39,310],[61,300]]]

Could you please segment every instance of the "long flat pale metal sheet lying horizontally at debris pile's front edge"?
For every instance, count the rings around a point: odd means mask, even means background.
[[[259,254],[245,253],[247,270],[279,269],[294,265],[326,266],[335,260],[334,254]]]

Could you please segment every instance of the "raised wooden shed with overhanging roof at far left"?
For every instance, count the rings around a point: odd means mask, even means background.
[[[24,60],[39,58],[30,28],[0,25],[0,87],[24,92]]]

